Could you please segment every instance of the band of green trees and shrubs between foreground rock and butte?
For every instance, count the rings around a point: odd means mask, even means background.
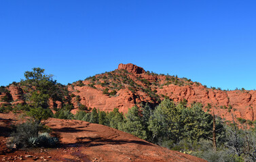
[[[207,161],[255,161],[256,157],[254,127],[224,122],[203,111],[200,103],[187,106],[164,99],[157,107],[134,106],[125,115],[118,109],[105,112],[94,108],[88,113],[78,111],[69,119],[103,124]],[[243,126],[249,125],[244,122]]]

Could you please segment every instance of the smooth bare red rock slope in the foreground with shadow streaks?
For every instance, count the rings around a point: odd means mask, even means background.
[[[198,161],[205,160],[141,140],[131,134],[86,121],[50,118],[47,126],[61,140],[58,148],[10,151],[5,141],[18,115],[0,113],[0,161]]]

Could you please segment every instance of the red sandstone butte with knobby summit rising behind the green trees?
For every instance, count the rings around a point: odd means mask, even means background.
[[[127,113],[128,109],[134,105],[140,106],[141,103],[158,105],[160,100],[168,97],[176,103],[186,99],[188,105],[199,102],[206,107],[211,104],[210,112],[212,113],[214,109],[216,115],[227,120],[232,120],[232,113],[235,118],[241,117],[251,121],[254,121],[256,117],[255,90],[213,90],[213,88],[206,88],[199,82],[191,82],[186,78],[146,72],[132,63],[120,63],[117,70],[87,78],[80,81],[80,85],[79,82],[73,82],[66,87],[69,90],[68,98],[71,98],[71,103],[75,107],[72,113],[76,113],[79,105],[85,105],[88,108],[95,107],[100,111],[112,111],[116,107]],[[12,95],[13,101],[1,102],[0,105],[24,103],[22,88],[14,85],[6,88]],[[103,94],[105,88],[109,88],[109,92],[115,90],[117,93],[113,96]],[[6,93],[3,92],[0,97]],[[71,97],[71,94],[79,96],[79,99]],[[60,108],[62,102],[51,101],[51,105]],[[229,106],[232,106],[232,109],[227,109]]]

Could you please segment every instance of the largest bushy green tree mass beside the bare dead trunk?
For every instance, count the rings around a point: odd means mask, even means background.
[[[149,130],[152,133],[152,142],[168,142],[172,148],[181,140],[189,143],[198,142],[201,139],[214,140],[213,130],[217,134],[217,140],[223,141],[223,125],[216,120],[213,129],[213,115],[202,110],[202,104],[194,103],[186,107],[180,103],[175,105],[169,99],[164,99],[153,111],[149,118]]]

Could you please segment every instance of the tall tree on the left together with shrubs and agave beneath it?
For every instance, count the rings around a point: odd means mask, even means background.
[[[23,111],[30,118],[15,126],[7,146],[9,148],[56,146],[58,138],[50,136],[49,129],[45,129],[42,121],[53,116],[49,99],[62,99],[60,94],[63,93],[59,93],[59,86],[56,80],[52,80],[52,75],[44,74],[41,68],[33,68],[33,71],[25,72],[24,77],[26,79],[21,80],[20,86],[27,90],[24,94],[26,103],[15,108]]]

